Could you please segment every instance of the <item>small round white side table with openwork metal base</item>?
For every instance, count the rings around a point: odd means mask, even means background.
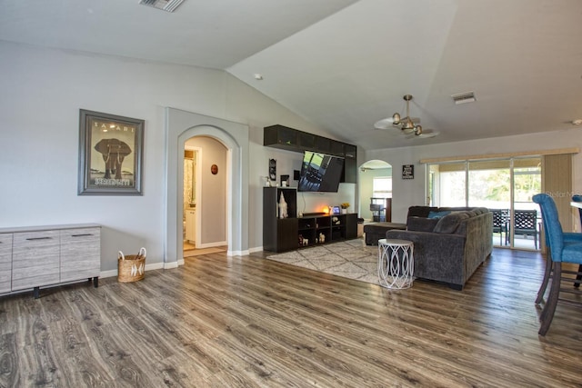
[[[378,240],[378,279],[382,287],[402,289],[414,282],[414,244],[407,240]]]

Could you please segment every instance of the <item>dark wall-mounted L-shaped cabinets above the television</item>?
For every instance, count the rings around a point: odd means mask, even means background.
[[[316,134],[308,134],[284,125],[270,125],[264,128],[263,145],[286,151],[302,153],[316,151],[345,158],[343,183],[355,184],[357,178],[357,147],[338,142]]]

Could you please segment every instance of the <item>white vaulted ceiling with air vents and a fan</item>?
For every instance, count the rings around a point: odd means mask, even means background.
[[[185,0],[175,13],[138,0],[2,1],[0,40],[223,69],[366,149],[582,119],[579,0]],[[469,91],[476,102],[451,98]],[[406,94],[437,137],[374,128],[405,113]]]

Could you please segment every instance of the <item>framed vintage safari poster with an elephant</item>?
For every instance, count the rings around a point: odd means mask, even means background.
[[[141,195],[145,121],[80,110],[79,195]]]

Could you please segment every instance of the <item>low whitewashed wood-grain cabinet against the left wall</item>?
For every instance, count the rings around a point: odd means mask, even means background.
[[[101,272],[101,226],[50,225],[0,229],[0,293],[93,279]]]

